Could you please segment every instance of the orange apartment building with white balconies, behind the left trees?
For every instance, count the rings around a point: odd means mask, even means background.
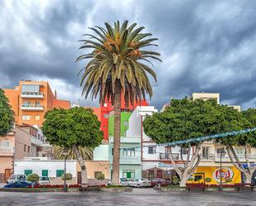
[[[52,108],[70,108],[70,102],[57,99],[56,92],[42,81],[20,81],[14,89],[3,89],[18,125],[41,127],[45,113]]]

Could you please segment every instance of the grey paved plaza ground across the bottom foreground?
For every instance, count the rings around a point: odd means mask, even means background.
[[[1,206],[31,205],[189,205],[239,206],[256,205],[251,192],[173,192],[133,189],[133,193],[10,193],[0,192]]]

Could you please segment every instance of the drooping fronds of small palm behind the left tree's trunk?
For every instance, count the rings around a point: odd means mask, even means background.
[[[79,146],[78,150],[80,151],[80,155],[84,160],[92,160],[93,159],[93,153],[94,151],[91,148],[88,147],[82,147]],[[65,149],[61,146],[53,146],[53,157],[56,160],[64,160],[65,156],[63,155],[63,152],[67,152],[66,159],[68,160],[77,160],[76,153],[73,149]]]

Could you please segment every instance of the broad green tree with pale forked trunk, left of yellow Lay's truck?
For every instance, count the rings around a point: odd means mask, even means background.
[[[192,100],[190,98],[173,99],[163,113],[154,113],[146,117],[143,122],[144,132],[157,143],[182,141],[195,137],[204,137],[222,132],[232,132],[244,129],[246,120],[241,113],[234,108],[218,104],[215,100]],[[231,139],[231,137],[230,137]],[[196,146],[191,159],[190,145],[184,170],[175,166],[177,174],[181,178],[181,186],[185,186],[187,178],[196,170],[200,162],[200,145],[202,142],[193,142]],[[176,165],[170,149],[170,158]],[[181,154],[181,160],[182,154]]]

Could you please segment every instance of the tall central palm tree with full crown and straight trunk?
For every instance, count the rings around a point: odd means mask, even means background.
[[[121,95],[127,106],[129,103],[133,105],[134,101],[141,103],[146,93],[152,97],[147,73],[157,82],[150,59],[160,60],[157,58],[160,54],[143,50],[146,46],[157,46],[152,44],[157,38],[148,38],[151,33],[142,33],[143,26],[136,28],[137,23],[128,26],[128,21],[124,21],[122,26],[114,22],[114,27],[105,22],[105,26],[89,28],[95,34],[85,34],[89,39],[81,40],[84,45],[80,49],[90,49],[90,52],[80,55],[77,60],[89,59],[85,68],[80,70],[83,72],[80,83],[82,95],[87,98],[90,93],[91,98],[96,98],[99,94],[99,103],[111,100],[114,104],[113,183],[118,184]]]

